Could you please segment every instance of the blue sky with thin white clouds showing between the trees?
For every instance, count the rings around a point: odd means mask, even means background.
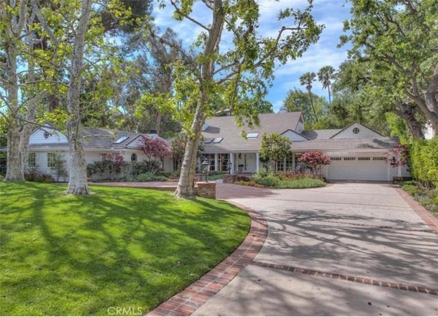
[[[259,0],[260,5],[260,29],[263,33],[275,33],[281,25],[276,21],[276,13],[281,8],[292,6],[292,8],[304,8],[306,0]],[[208,23],[201,3],[195,4],[192,16]],[[155,22],[163,29],[172,27],[179,34],[185,44],[190,44],[197,36],[201,28],[193,23],[185,21],[183,23],[172,20],[172,10],[170,7],[164,10],[155,10]],[[270,88],[266,100],[274,105],[274,111],[278,111],[289,89],[305,89],[300,85],[299,77],[305,72],[318,72],[323,66],[333,66],[337,69],[347,58],[347,47],[337,49],[339,36],[342,34],[343,21],[350,16],[350,7],[345,0],[314,0],[312,15],[318,24],[325,25],[322,30],[320,40],[313,44],[307,52],[299,59],[288,61],[287,64],[279,66],[275,71],[275,80]],[[227,44],[227,35],[222,36],[224,44]],[[313,92],[328,98],[326,89],[322,89],[318,81],[313,83]]]

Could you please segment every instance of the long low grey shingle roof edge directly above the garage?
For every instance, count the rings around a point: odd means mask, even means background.
[[[294,142],[292,150],[354,150],[354,149],[389,149],[398,146],[397,137],[364,137],[350,139],[316,139],[313,141]]]

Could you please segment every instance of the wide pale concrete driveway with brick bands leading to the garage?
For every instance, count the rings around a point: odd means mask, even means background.
[[[227,194],[265,217],[268,236],[193,315],[438,315],[438,234],[392,185],[262,194]]]

